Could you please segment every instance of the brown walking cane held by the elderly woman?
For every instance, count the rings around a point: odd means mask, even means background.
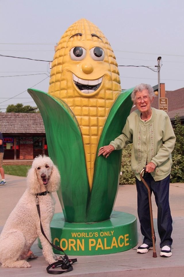
[[[156,258],[157,254],[156,254],[156,249],[155,249],[155,233],[154,233],[154,226],[153,226],[153,213],[152,213],[152,199],[151,199],[151,192],[150,192],[150,188],[147,185],[147,183],[145,182],[145,180],[143,179],[143,172],[145,172],[146,168],[144,167],[141,172],[140,172],[140,178],[141,181],[143,182],[143,184],[145,185],[145,187],[147,188],[148,191],[148,198],[149,198],[149,207],[150,207],[150,220],[151,220],[151,229],[152,229],[152,242],[153,242],[153,257]]]

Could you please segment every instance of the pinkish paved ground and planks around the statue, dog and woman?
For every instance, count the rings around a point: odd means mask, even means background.
[[[0,231],[10,212],[26,189],[26,178],[5,175],[7,184],[0,186]],[[59,199],[55,193],[55,212],[62,212]],[[67,276],[77,277],[166,277],[183,276],[184,270],[184,184],[170,184],[170,208],[173,217],[173,255],[170,258],[160,257],[159,238],[156,224],[157,208],[152,199],[154,227],[157,237],[156,252],[158,257],[152,257],[152,250],[146,254],[137,254],[136,247],[128,251],[97,256],[78,256],[78,263],[74,270],[67,272]],[[137,217],[137,193],[135,185],[119,186],[114,210],[134,214]],[[142,235],[138,222],[138,244],[142,243]],[[38,248],[37,242],[32,249],[39,259],[30,261],[32,267],[28,269],[8,269],[0,267],[0,277],[45,277],[47,263]]]

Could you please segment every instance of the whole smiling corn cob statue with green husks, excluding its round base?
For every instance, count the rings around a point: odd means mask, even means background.
[[[28,90],[43,117],[49,156],[60,169],[58,196],[66,221],[110,217],[121,151],[107,160],[97,158],[97,151],[120,134],[132,106],[131,91],[121,92],[112,48],[86,19],[71,25],[57,44],[49,95]]]

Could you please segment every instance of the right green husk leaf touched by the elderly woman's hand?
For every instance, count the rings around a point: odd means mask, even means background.
[[[120,93],[104,125],[98,150],[108,145],[122,132],[132,108],[132,89]],[[118,191],[122,151],[113,151],[108,158],[96,155],[93,186],[87,210],[87,222],[106,220],[110,217]]]

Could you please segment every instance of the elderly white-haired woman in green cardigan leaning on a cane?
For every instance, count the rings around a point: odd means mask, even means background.
[[[175,145],[175,134],[168,115],[151,107],[154,91],[150,85],[140,84],[131,94],[138,110],[127,118],[122,134],[109,145],[100,147],[101,154],[108,157],[114,150],[133,143],[131,167],[136,176],[137,211],[143,235],[143,244],[137,253],[147,253],[152,249],[152,233],[148,192],[140,179],[140,171],[146,167],[143,178],[155,195],[158,207],[158,233],[160,236],[160,256],[172,255],[172,217],[169,207],[169,183],[172,165],[171,152]]]

